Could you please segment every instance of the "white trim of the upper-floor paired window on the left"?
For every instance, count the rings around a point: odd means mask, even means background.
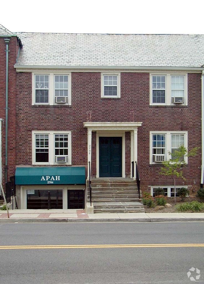
[[[36,103],[35,102],[35,75],[48,75],[49,76],[49,100],[48,103]],[[58,104],[55,102],[55,75],[67,75],[68,76],[68,103]],[[32,105],[69,105],[72,101],[72,76],[71,72],[33,72],[32,73]]]

